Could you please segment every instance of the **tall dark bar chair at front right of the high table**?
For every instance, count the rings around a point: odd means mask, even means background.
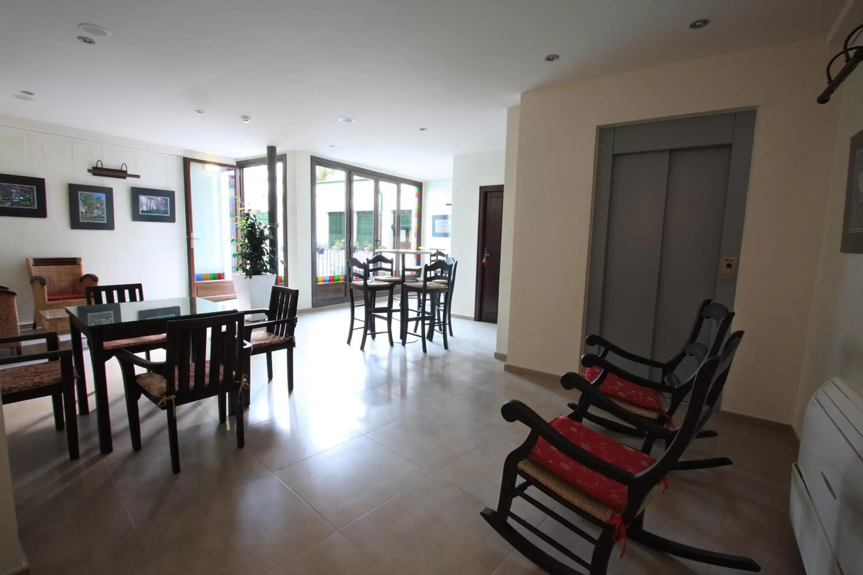
[[[431,341],[436,328],[440,327],[442,328],[441,333],[444,335],[444,349],[450,349],[446,329],[443,329],[445,322],[442,319],[446,318],[449,313],[449,299],[444,300],[442,316],[438,313],[438,302],[440,301],[440,297],[447,293],[448,286],[445,282],[449,281],[451,275],[452,266],[446,263],[444,259],[438,259],[434,263],[423,266],[422,281],[406,281],[402,284],[401,345],[406,345],[408,334],[417,335],[423,342],[423,353],[426,353],[428,350],[425,340],[428,339]],[[418,295],[419,305],[417,309],[410,309],[408,307],[408,297],[412,293]],[[426,309],[426,303],[429,304],[430,309]],[[411,316],[410,312],[415,312],[417,315]],[[413,332],[407,329],[407,324],[410,322],[414,322],[415,327],[413,328]],[[428,328],[425,327],[426,323],[428,324]],[[420,327],[419,332],[416,331],[418,324]]]

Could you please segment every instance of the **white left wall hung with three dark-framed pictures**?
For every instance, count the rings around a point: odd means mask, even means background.
[[[18,292],[21,322],[33,317],[24,263],[28,257],[81,257],[84,272],[95,273],[99,283],[140,282],[148,299],[188,294],[184,154],[205,158],[177,148],[0,117],[0,173],[45,178],[46,184],[47,218],[0,217],[0,284]],[[108,167],[125,163],[141,178],[95,178],[87,168],[98,159]],[[112,188],[115,228],[72,229],[67,184]],[[176,222],[132,222],[132,186],[173,190]]]

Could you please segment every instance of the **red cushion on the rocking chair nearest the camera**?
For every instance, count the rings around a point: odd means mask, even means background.
[[[586,428],[581,423],[572,421],[569,417],[558,416],[549,422],[549,425],[584,451],[592,453],[600,459],[605,459],[608,463],[625,469],[627,472],[633,474],[643,472],[656,461],[650,455],[614,441],[593,429]],[[625,485],[576,463],[551,447],[551,444],[542,437],[531,450],[529,457],[609,507],[620,511],[627,506],[628,493]]]

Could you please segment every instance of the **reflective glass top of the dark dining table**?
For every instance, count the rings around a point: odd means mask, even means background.
[[[66,308],[69,315],[77,317],[82,323],[91,327],[147,320],[179,319],[232,310],[236,310],[236,306],[211,302],[203,297],[171,297],[144,302],[71,305]]]

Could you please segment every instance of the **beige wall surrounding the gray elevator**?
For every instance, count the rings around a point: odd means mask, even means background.
[[[723,409],[791,422],[835,141],[836,106],[815,102],[829,56],[813,39],[522,94],[508,362],[578,365],[597,128],[757,108],[734,324],[746,340]]]

